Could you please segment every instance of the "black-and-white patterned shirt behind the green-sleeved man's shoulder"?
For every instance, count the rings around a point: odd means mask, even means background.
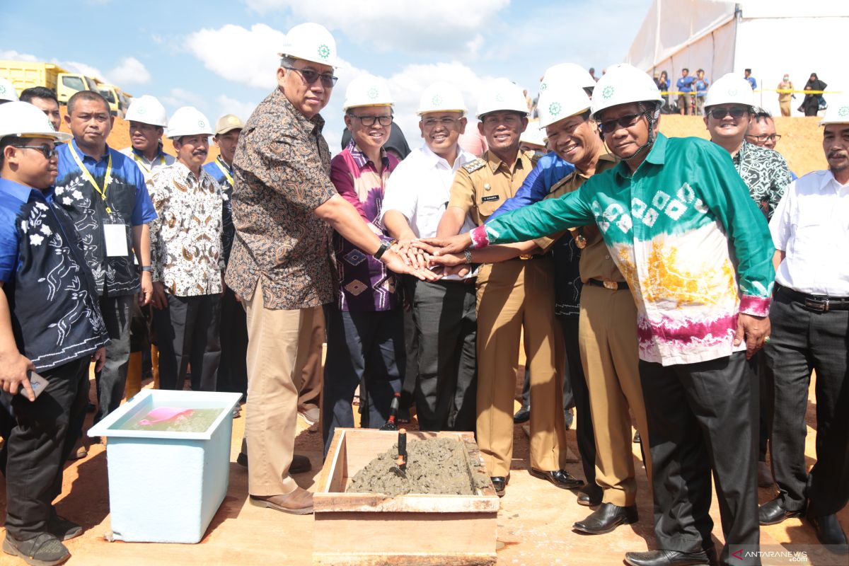
[[[767,221],[771,220],[775,207],[781,202],[787,185],[792,181],[787,160],[773,149],[762,148],[744,140],[732,161],[749,188],[752,200]]]

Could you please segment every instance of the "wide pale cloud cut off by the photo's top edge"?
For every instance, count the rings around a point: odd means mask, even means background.
[[[380,51],[466,53],[474,40],[507,8],[509,0],[245,0],[260,13],[290,9],[297,20],[343,31],[354,42]]]

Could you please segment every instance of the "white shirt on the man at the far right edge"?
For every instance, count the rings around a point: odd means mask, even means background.
[[[786,253],[775,280],[800,293],[849,297],[849,183],[812,171],[787,187],[769,222]]]

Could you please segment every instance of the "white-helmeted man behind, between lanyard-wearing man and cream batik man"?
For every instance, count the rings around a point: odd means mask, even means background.
[[[156,171],[174,163],[174,156],[162,151],[162,134],[168,126],[168,116],[157,98],[149,94],[133,98],[124,120],[130,122],[132,145],[121,149],[121,153],[135,161],[145,181]]]

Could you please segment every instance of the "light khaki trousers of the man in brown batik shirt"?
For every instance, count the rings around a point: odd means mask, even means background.
[[[298,389],[310,355],[312,329],[320,306],[293,311],[262,304],[256,283],[245,300],[248,320],[248,401],[245,436],[248,444],[248,492],[252,496],[284,495],[295,490],[289,475],[295,451]]]

